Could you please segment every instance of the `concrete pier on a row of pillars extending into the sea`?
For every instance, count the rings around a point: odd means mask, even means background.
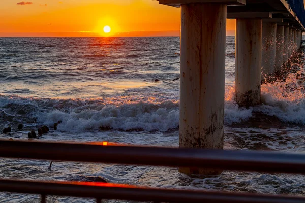
[[[223,149],[226,18],[236,19],[235,95],[261,103],[261,83],[275,80],[301,45],[301,0],[159,0],[181,8],[180,148]],[[180,167],[186,174],[216,169]]]

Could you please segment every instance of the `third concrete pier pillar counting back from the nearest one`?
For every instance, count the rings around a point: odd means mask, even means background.
[[[263,22],[262,77],[272,81],[275,77],[277,23]]]

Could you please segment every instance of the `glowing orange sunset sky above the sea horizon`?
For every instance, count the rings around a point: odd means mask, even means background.
[[[153,0],[0,0],[0,19],[0,36],[99,36],[105,25],[115,36],[176,36],[180,9]]]

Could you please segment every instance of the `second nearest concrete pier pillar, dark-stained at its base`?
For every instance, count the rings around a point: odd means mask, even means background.
[[[235,95],[239,106],[260,104],[262,19],[236,19]]]

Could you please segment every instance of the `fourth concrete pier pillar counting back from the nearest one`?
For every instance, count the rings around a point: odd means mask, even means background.
[[[284,61],[284,26],[277,26],[276,72],[279,72]]]

